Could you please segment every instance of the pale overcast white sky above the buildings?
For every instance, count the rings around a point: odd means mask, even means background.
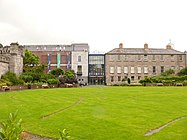
[[[0,0],[0,43],[187,50],[185,0]]]

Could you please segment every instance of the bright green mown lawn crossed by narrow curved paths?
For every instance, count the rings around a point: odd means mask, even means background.
[[[41,117],[80,104],[49,118]],[[0,121],[19,110],[23,128],[58,137],[67,129],[75,140],[185,140],[187,119],[144,137],[175,118],[187,116],[187,87],[97,87],[40,89],[0,94]]]

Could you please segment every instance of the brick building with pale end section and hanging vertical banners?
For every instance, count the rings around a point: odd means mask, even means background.
[[[46,72],[55,68],[73,69],[79,81],[88,82],[88,52],[87,43],[71,45],[24,45],[39,57],[40,63],[47,65]]]

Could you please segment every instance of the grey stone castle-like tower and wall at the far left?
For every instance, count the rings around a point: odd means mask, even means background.
[[[23,72],[24,47],[18,43],[0,44],[0,77],[7,71],[20,75]]]

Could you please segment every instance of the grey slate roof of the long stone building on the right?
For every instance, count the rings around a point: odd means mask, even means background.
[[[174,49],[115,48],[106,54],[184,54]]]

